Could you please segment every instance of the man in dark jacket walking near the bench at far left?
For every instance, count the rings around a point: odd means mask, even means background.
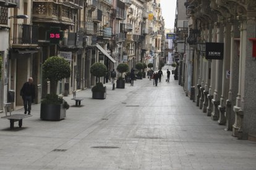
[[[30,115],[31,103],[35,99],[35,85],[33,84],[33,78],[28,78],[28,82],[24,83],[22,89],[20,89],[20,95],[23,99],[24,114]]]

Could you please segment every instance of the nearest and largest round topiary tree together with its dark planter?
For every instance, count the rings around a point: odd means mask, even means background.
[[[70,77],[70,65],[62,57],[49,57],[43,63],[43,77],[48,79],[50,94],[41,102],[40,118],[43,120],[58,121],[66,117],[69,105],[56,94],[58,81]]]

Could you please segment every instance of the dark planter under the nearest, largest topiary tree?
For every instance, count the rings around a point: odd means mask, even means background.
[[[40,119],[48,121],[60,121],[66,118],[66,108],[63,108],[63,104],[43,104],[40,108]]]

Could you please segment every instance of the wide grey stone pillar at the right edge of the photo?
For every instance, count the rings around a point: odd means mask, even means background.
[[[253,8],[252,6],[250,6]],[[250,134],[256,134],[256,58],[252,57],[252,41],[249,38],[256,37],[256,2],[254,3],[254,10],[247,11],[247,46],[245,55],[245,78],[244,78],[244,95],[242,95],[242,110],[244,111],[244,128],[243,139],[247,139]],[[254,137],[255,139],[255,137]]]

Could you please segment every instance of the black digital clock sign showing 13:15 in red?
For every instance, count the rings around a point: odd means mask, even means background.
[[[51,27],[46,31],[46,39],[50,44],[59,44],[59,41],[63,39],[63,31],[59,27]]]

